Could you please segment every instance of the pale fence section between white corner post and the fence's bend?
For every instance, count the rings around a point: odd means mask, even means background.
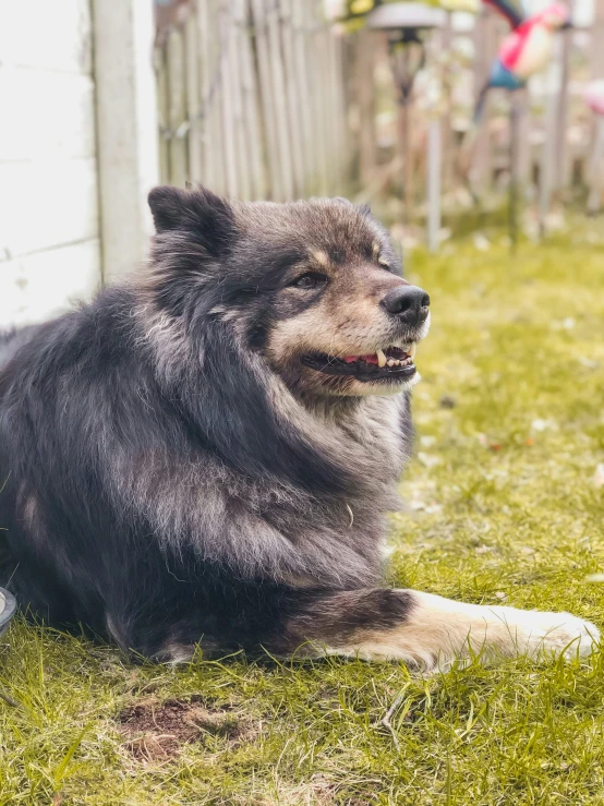
[[[191,0],[155,52],[164,182],[241,199],[341,193],[343,44],[316,0]]]

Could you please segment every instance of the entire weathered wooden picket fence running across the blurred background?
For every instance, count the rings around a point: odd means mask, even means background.
[[[390,215],[406,221],[430,219],[436,195],[446,212],[464,208],[469,190],[481,204],[496,202],[511,173],[540,220],[581,182],[594,185],[590,209],[600,204],[600,151],[580,93],[590,75],[604,75],[604,0],[594,0],[593,26],[559,35],[547,71],[516,94],[514,165],[503,91],[490,95],[481,127],[466,137],[507,33],[500,15],[483,10],[473,31],[456,31],[449,17],[431,33],[426,64],[442,99],[430,107],[416,91],[404,143],[385,35],[365,28],[341,36],[322,5],[170,0],[155,50],[164,182],[201,181],[242,199],[387,197]],[[585,41],[590,53],[581,55]],[[438,180],[432,196],[431,176]]]

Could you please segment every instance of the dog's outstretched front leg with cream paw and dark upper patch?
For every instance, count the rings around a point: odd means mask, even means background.
[[[569,613],[375,589],[301,597],[286,635],[290,651],[301,645],[305,653],[401,660],[434,672],[476,655],[486,663],[518,654],[582,657],[592,651],[600,631]]]

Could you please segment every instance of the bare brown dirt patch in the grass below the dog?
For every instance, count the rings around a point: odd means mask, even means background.
[[[118,721],[124,746],[137,761],[168,761],[182,745],[203,744],[210,736],[222,737],[233,747],[254,734],[250,723],[229,706],[207,706],[201,697],[164,702],[146,699],[124,709]]]

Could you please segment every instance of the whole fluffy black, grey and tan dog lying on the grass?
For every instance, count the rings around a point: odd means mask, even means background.
[[[7,336],[2,580],[159,661],[591,651],[566,613],[380,587],[430,300],[346,200],[157,188],[149,265]]]

